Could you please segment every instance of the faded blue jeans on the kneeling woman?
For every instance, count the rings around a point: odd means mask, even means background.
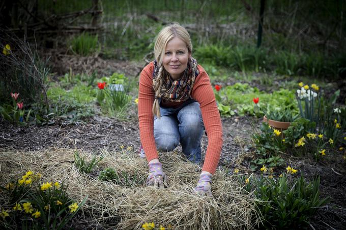
[[[186,157],[200,163],[200,139],[204,123],[199,103],[188,100],[176,109],[160,106],[160,113],[160,119],[154,117],[156,147],[161,151],[172,151],[180,143]]]

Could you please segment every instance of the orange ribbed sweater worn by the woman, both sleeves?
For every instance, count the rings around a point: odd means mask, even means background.
[[[222,126],[216,106],[215,95],[206,71],[198,65],[191,97],[200,105],[204,126],[208,134],[208,147],[202,171],[214,174],[220,160],[222,147]],[[148,162],[158,158],[154,139],[153,89],[154,62],[150,62],[141,72],[138,92],[138,119],[140,141]]]

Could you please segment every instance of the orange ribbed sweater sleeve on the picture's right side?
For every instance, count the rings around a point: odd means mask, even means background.
[[[208,147],[203,171],[214,174],[222,148],[222,125],[215,95],[208,74],[198,65],[199,75],[192,90],[192,98],[199,103],[204,126],[208,134]]]

